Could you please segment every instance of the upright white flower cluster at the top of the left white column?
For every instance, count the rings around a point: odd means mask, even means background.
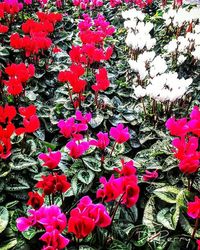
[[[126,44],[133,50],[150,50],[156,44],[156,39],[152,38],[150,31],[153,24],[144,22],[145,15],[136,9],[122,12],[122,17],[126,20],[124,27],[128,30]]]

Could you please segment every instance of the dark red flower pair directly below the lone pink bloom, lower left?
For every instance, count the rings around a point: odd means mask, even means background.
[[[43,190],[44,195],[55,194],[56,192],[65,193],[70,188],[70,183],[67,181],[67,177],[63,175],[50,174],[48,176],[42,176],[42,180],[36,184],[37,188]]]

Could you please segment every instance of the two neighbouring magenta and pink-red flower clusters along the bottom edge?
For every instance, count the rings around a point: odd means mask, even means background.
[[[39,209],[28,211],[30,216],[17,219],[17,228],[24,232],[30,227],[44,229],[45,233],[40,240],[45,242],[43,250],[63,249],[69,243],[62,233],[68,226],[68,232],[73,233],[78,239],[88,236],[94,228],[107,227],[111,218],[102,204],[94,204],[89,196],[80,199],[76,208],[70,212],[67,225],[67,218],[56,205],[41,206]],[[50,248],[51,247],[51,248]]]

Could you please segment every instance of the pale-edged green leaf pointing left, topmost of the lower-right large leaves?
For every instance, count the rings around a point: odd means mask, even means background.
[[[162,188],[155,189],[153,193],[159,197],[161,200],[166,201],[167,203],[176,203],[177,194],[180,192],[180,189],[172,186],[165,186]]]

